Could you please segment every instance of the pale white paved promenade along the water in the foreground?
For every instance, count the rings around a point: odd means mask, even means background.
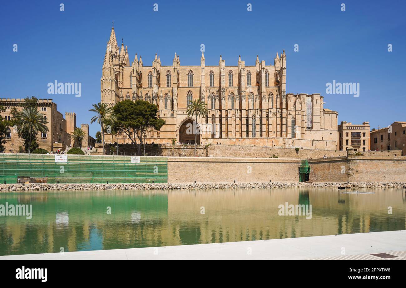
[[[345,254],[342,254],[345,249]],[[0,256],[0,260],[406,259],[406,231],[371,232],[168,247]]]

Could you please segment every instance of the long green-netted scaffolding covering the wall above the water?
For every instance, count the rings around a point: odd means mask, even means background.
[[[168,158],[139,156],[132,163],[131,157],[69,154],[66,163],[57,163],[53,154],[3,153],[0,183],[168,182]]]

